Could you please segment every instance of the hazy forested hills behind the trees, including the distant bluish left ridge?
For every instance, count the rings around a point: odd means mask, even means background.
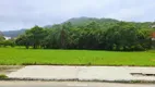
[[[97,24],[99,24],[102,29],[107,29],[109,27],[112,27],[114,25],[116,25],[116,23],[120,22],[118,20],[114,20],[114,18],[95,18],[95,17],[74,17],[74,18],[70,18],[61,24],[68,23],[70,22],[73,26],[76,27],[83,27],[87,24],[90,24],[91,22],[96,22]],[[134,25],[136,25],[138,27],[142,27],[142,28],[148,28],[150,26],[152,26],[152,22],[145,22],[145,23],[135,23],[135,22],[129,22],[132,23]],[[46,28],[51,28],[55,27],[55,25],[46,25]],[[9,30],[9,32],[2,32],[4,36],[7,37],[16,37],[21,34],[23,34],[26,29],[21,29],[21,30]]]

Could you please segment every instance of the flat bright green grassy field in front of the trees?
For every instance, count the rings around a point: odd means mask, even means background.
[[[114,52],[0,48],[1,65],[138,65],[155,66],[155,51]]]

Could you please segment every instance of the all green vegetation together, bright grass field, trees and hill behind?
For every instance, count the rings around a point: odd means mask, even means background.
[[[151,40],[153,24],[81,17],[52,26],[36,25],[14,39],[0,35],[0,65],[155,66],[155,51],[148,51],[155,44]]]

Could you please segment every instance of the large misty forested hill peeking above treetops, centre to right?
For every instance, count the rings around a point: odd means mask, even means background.
[[[68,20],[67,22],[71,22],[73,26],[85,26],[91,22],[96,22],[100,25],[102,28],[107,28],[122,21],[118,21],[115,18],[73,17]],[[155,24],[153,22],[128,22],[128,23],[134,24],[135,26],[141,28],[150,28],[152,25]]]

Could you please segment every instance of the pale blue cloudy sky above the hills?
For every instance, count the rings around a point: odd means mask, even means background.
[[[0,30],[62,23],[72,17],[155,21],[155,0],[0,0]]]

